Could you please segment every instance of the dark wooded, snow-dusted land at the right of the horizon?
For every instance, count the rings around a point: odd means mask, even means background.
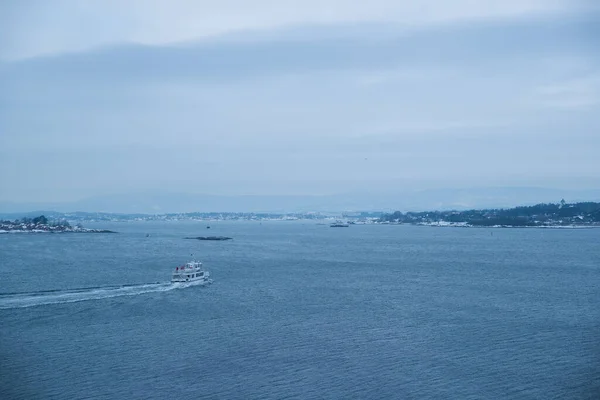
[[[600,203],[537,204],[508,209],[469,211],[396,211],[384,214],[380,223],[465,227],[600,227]]]

